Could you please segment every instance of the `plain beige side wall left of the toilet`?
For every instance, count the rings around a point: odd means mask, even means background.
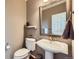
[[[12,59],[14,52],[23,44],[26,23],[25,0],[5,0],[5,16],[5,44],[10,45],[10,49],[5,51],[5,59]]]

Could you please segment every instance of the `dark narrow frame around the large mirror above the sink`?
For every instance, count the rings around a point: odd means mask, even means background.
[[[67,3],[67,2],[66,2]],[[46,5],[44,5],[44,6],[47,6],[47,5],[50,5],[50,4],[52,4],[52,2],[51,3],[49,3],[49,4],[46,4]],[[42,24],[42,7],[44,7],[44,6],[40,6],[39,7],[39,27],[40,27],[40,35],[43,35],[43,36],[54,36],[54,37],[61,37],[62,35],[53,35],[53,34],[43,34],[42,32],[41,32],[41,24]],[[66,21],[67,21],[67,6],[66,6]]]

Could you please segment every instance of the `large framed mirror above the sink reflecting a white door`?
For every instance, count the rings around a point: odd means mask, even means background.
[[[40,6],[40,34],[61,36],[66,25],[66,0]]]

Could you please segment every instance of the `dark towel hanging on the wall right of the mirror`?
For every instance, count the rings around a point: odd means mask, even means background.
[[[64,39],[74,39],[74,30],[71,20],[68,20],[62,37]]]

